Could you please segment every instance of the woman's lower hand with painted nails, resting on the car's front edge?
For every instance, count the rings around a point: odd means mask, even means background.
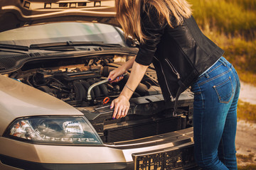
[[[120,95],[112,101],[110,108],[114,107],[112,118],[124,118],[129,111],[129,99],[125,96]]]

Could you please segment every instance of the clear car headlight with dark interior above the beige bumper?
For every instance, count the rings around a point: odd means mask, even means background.
[[[102,145],[90,123],[82,117],[18,118],[4,136],[33,143]]]

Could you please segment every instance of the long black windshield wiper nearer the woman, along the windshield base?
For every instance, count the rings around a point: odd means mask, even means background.
[[[38,49],[38,48],[47,48],[47,47],[67,47],[67,46],[104,46],[104,47],[122,47],[119,44],[107,44],[105,42],[88,42],[88,41],[66,41],[66,42],[52,42],[52,43],[43,43],[43,44],[33,44],[30,45],[30,49]]]

